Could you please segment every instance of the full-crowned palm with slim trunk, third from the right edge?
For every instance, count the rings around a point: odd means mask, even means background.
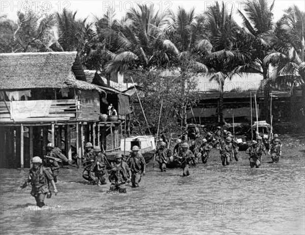
[[[232,12],[225,9],[224,3],[209,7],[205,12],[204,29],[206,38],[201,40],[197,48],[202,55],[202,61],[210,68],[210,81],[216,81],[220,86],[218,114],[220,124],[225,123],[223,116],[223,92],[225,80],[231,80],[243,64],[249,64],[246,49],[240,47],[238,39],[242,36],[241,29],[232,19]]]

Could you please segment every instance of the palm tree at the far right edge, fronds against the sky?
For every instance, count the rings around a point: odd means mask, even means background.
[[[297,116],[294,110],[296,86],[301,86],[305,101],[304,19],[305,13],[298,7],[288,8],[276,24],[271,41],[274,50],[264,59],[266,66],[269,64],[274,66],[271,74],[272,83],[288,86],[291,90],[292,120]],[[304,102],[303,109],[305,110]]]

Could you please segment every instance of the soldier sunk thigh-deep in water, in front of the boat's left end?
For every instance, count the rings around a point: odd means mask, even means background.
[[[111,163],[108,170],[109,181],[111,183],[109,191],[126,193],[126,183],[131,181],[131,171],[126,162],[122,161],[122,155],[117,153],[114,157],[115,163]]]

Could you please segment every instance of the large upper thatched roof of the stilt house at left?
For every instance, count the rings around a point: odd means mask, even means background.
[[[76,52],[0,54],[0,89],[62,88],[67,87],[66,80],[86,81],[76,55]]]

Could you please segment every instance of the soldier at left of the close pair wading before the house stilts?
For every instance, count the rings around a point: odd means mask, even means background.
[[[84,171],[82,173],[82,177],[85,180],[88,180],[90,183],[94,182],[95,176],[93,170],[91,170],[91,167],[94,163],[95,155],[93,151],[93,145],[90,142],[87,142],[85,144],[85,154],[82,159],[82,164],[84,167]]]

